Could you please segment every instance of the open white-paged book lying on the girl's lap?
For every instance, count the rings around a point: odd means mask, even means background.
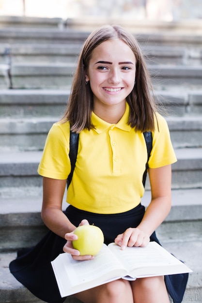
[[[103,244],[93,260],[76,261],[63,253],[51,262],[61,297],[94,288],[109,281],[192,272],[156,242],[146,247]]]

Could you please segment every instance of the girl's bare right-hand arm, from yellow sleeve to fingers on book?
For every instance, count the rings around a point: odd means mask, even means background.
[[[146,246],[149,237],[171,210],[171,165],[149,168],[152,200],[137,228],[128,228],[115,242],[126,246]]]

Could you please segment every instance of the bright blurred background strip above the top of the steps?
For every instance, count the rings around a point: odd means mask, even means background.
[[[0,0],[0,15],[177,21],[202,19],[202,0]]]

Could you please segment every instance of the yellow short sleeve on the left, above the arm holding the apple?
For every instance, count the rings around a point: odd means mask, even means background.
[[[39,175],[52,179],[67,179],[71,164],[69,159],[69,123],[55,123],[49,130],[42,159],[38,167]]]

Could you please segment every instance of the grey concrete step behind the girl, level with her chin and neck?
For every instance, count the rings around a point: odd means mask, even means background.
[[[64,112],[69,90],[1,90],[0,117],[58,116]],[[159,109],[171,116],[201,115],[202,90],[155,91]]]

